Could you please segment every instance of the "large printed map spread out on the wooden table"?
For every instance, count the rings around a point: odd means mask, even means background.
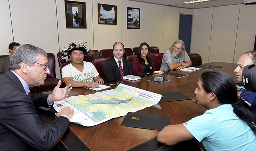
[[[71,96],[54,102],[56,111],[70,107],[74,109],[71,122],[83,126],[94,126],[128,112],[157,104],[162,95],[139,88],[119,84],[117,88],[90,95]]]

